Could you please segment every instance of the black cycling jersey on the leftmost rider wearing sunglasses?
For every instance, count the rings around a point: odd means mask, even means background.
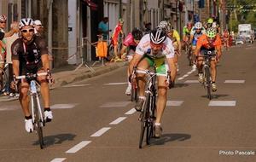
[[[43,38],[34,36],[31,43],[23,43],[18,38],[11,46],[12,60],[20,61],[20,75],[38,72],[43,67],[41,55],[48,55],[47,44]]]

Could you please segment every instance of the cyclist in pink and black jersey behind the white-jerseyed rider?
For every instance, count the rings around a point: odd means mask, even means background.
[[[141,38],[143,38],[143,32],[138,28],[134,28],[132,32],[130,32],[125,38],[123,42],[123,47],[120,51],[120,55],[122,55],[123,57],[126,49],[129,48],[128,54],[126,56],[128,58],[128,61],[130,62],[135,53],[137,44],[140,42]],[[128,74],[127,78],[129,78],[130,76],[129,69],[127,70],[127,74]],[[128,81],[127,89],[125,90],[125,94],[131,95],[131,83],[129,81]]]

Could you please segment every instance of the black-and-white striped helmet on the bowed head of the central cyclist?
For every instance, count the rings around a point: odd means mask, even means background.
[[[150,42],[154,44],[163,43],[166,40],[166,32],[160,27],[155,28],[149,34]]]

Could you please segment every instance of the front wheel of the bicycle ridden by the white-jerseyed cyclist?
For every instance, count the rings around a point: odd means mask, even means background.
[[[141,134],[140,134],[140,141],[139,141],[139,148],[143,148],[143,138],[145,133],[145,128],[148,126],[148,110],[149,110],[149,95],[147,95],[143,112],[141,113]]]

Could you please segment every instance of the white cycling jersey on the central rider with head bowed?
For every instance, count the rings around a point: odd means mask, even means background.
[[[150,38],[149,34],[143,36],[140,40],[140,43],[137,44],[136,53],[138,55],[148,55],[148,57],[152,59],[158,59],[162,57],[173,58],[174,57],[174,48],[172,45],[172,40],[170,38],[166,38],[163,48],[157,55],[152,54],[150,47]]]

